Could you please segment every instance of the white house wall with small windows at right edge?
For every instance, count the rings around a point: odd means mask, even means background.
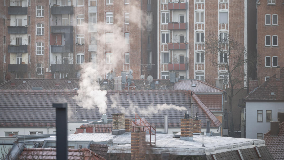
[[[270,130],[270,122],[266,122],[266,110],[272,110],[271,117],[277,118],[278,108],[283,108],[283,105],[284,102],[247,102],[247,138],[257,139],[257,133],[262,133],[262,136],[264,136]],[[257,110],[262,110],[262,122],[257,122]]]

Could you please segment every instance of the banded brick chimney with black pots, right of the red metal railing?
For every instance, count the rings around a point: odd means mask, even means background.
[[[185,116],[186,117],[186,116]],[[193,140],[193,119],[180,120],[180,140]]]

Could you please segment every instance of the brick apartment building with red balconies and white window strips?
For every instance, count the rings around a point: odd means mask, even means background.
[[[158,79],[168,79],[170,72],[214,85],[227,79],[226,69],[212,65],[224,59],[205,58],[202,43],[209,33],[223,39],[231,34],[247,46],[247,0],[159,0],[158,11]]]

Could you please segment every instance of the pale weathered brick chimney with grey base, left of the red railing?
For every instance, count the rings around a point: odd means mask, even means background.
[[[112,134],[121,135],[125,133],[125,118],[123,113],[112,114]]]

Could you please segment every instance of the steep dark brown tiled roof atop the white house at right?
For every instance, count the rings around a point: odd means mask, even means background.
[[[284,67],[283,67],[284,68]],[[280,69],[280,80],[276,80],[276,74],[265,81],[261,86],[252,91],[245,101],[283,101],[284,100],[284,69]],[[271,92],[274,95],[271,95]]]

